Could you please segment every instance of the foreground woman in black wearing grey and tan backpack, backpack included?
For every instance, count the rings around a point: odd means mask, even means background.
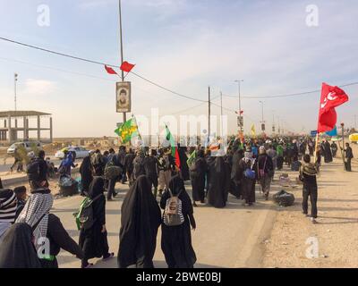
[[[192,201],[185,190],[183,179],[175,175],[160,199],[164,210],[161,248],[169,268],[193,268],[196,262],[192,248],[192,230],[196,229]]]

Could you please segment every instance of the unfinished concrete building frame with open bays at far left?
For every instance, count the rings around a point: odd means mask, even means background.
[[[48,121],[47,127],[43,127],[45,121]],[[31,127],[30,122],[32,122],[32,125],[35,126]],[[33,124],[33,122],[35,122],[35,124]],[[1,143],[12,144],[13,142],[21,139],[37,139],[38,141],[52,142],[52,127],[51,114],[41,113],[38,111],[0,112]],[[41,131],[49,131],[48,137],[41,137]]]

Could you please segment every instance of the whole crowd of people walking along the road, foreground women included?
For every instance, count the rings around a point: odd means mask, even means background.
[[[260,185],[263,198],[268,200],[275,172],[282,170],[284,164],[297,171],[303,181],[303,214],[308,215],[310,199],[310,216],[315,222],[316,175],[321,156],[325,163],[332,162],[337,145],[324,140],[316,149],[315,146],[311,138],[245,142],[233,139],[225,154],[216,152],[220,144],[189,148],[178,144],[177,156],[172,153],[172,147],[134,150],[121,146],[117,153],[111,148],[103,154],[100,150],[91,151],[80,167],[81,195],[87,205],[81,204],[79,215],[86,209],[87,216],[82,216],[86,220],[80,219],[78,242],[72,240],[60,219],[50,213],[53,196],[48,170],[51,166],[45,152],[40,151],[27,166],[29,197],[25,187],[3,189],[0,181],[0,267],[58,267],[56,256],[61,248],[81,259],[82,268],[92,265],[91,258],[114,257],[107,241],[106,203],[117,195],[116,183],[130,186],[121,207],[117,263],[122,268],[154,267],[159,227],[161,249],[168,267],[192,268],[196,262],[191,233],[191,229],[196,228],[194,207],[202,204],[225,207],[229,193],[243,200],[243,206],[254,206],[256,184]],[[353,157],[349,144],[345,147],[345,156],[348,171]],[[311,163],[311,157],[316,161]],[[77,166],[75,160],[75,154],[66,152],[54,172],[71,176],[71,168]],[[110,172],[111,168],[115,172]],[[192,184],[192,198],[185,189],[185,181]]]

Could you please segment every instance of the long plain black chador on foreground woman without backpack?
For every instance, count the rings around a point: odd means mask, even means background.
[[[146,176],[137,178],[121,209],[118,266],[153,267],[161,213]]]

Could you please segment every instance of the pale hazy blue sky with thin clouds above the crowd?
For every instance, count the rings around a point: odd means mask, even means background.
[[[49,27],[38,26],[39,4],[50,8]],[[318,27],[306,24],[309,4],[319,8]],[[358,81],[357,14],[356,0],[123,0],[124,59],[149,80],[204,100],[209,85],[213,97],[220,90],[237,95],[238,79],[243,97],[320,89],[322,81],[342,85]],[[119,64],[116,0],[0,0],[0,15],[0,37]],[[122,121],[115,113],[117,78],[100,65],[0,41],[0,110],[13,110],[14,72],[18,109],[54,114],[55,137],[113,136]],[[133,75],[127,80],[134,114],[150,114],[151,107],[175,114],[200,104]],[[338,121],[353,126],[358,85],[344,89],[350,102],[337,108]],[[268,128],[275,113],[286,129],[315,129],[319,97],[264,99]],[[245,130],[252,122],[260,129],[259,100],[242,100]],[[238,109],[237,98],[224,97],[223,105]],[[184,114],[206,113],[207,105],[200,105]],[[236,115],[224,113],[234,132]]]

